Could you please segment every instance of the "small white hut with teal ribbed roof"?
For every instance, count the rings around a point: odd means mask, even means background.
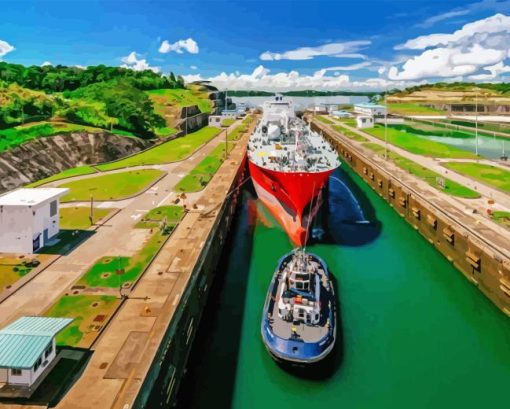
[[[55,336],[72,318],[22,317],[0,330],[0,396],[29,397],[56,364]]]

